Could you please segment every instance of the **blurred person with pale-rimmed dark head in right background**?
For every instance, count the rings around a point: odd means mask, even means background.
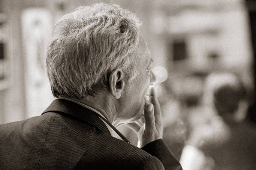
[[[199,114],[209,119],[194,127],[183,159],[190,154],[190,160],[198,162],[198,169],[207,169],[209,164],[216,170],[256,169],[256,127],[245,120],[248,102],[238,76],[210,74],[203,100],[205,113]],[[180,161],[183,165],[185,160]]]

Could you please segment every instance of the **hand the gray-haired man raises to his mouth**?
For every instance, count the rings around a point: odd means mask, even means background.
[[[126,124],[138,135],[138,147],[163,138],[163,126],[160,105],[154,88],[150,89],[149,101],[144,106],[144,117]]]

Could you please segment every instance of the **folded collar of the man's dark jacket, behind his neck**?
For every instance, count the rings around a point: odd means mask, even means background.
[[[56,112],[59,114],[71,115],[98,128],[102,132],[111,135],[106,125],[97,116],[96,112],[75,102],[67,101],[65,99],[55,99],[42,114],[46,112]]]

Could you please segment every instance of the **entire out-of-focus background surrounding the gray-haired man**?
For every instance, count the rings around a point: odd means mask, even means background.
[[[38,116],[52,102],[45,68],[51,30],[64,14],[97,2],[0,0],[0,124]],[[104,2],[142,21],[164,140],[184,170],[256,169],[256,2]],[[136,145],[136,134],[118,129]]]

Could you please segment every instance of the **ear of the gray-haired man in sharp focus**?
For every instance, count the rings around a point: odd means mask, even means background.
[[[114,69],[109,75],[110,93],[114,98],[119,99],[124,90],[124,72],[119,69]]]

